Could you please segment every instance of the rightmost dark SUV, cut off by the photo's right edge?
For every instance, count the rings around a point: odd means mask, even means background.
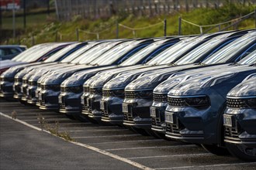
[[[253,162],[256,161],[255,84],[256,73],[230,90],[227,94],[227,109],[223,115],[224,141],[227,149],[237,158]]]

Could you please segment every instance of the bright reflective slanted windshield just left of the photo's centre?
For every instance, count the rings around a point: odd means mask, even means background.
[[[107,53],[104,53],[102,56],[99,56],[98,59],[95,59],[90,63],[91,65],[109,65],[116,61],[116,59],[119,59],[120,56],[123,56],[125,53],[129,52],[131,49],[136,47],[137,44],[134,44],[132,42],[124,42],[120,44],[119,46],[115,46],[111,50],[109,50]]]

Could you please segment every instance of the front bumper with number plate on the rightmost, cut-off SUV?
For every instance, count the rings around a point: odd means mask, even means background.
[[[227,108],[223,121],[224,141],[256,148],[256,110]]]

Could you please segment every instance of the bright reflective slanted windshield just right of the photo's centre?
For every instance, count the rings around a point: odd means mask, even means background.
[[[146,46],[144,49],[141,49],[138,53],[135,53],[133,56],[130,56],[130,58],[126,59],[123,63],[120,64],[120,66],[128,66],[138,63],[140,59],[143,59],[145,56],[149,55],[158,47],[163,46],[164,42],[166,42],[166,40],[154,42],[153,44]]]

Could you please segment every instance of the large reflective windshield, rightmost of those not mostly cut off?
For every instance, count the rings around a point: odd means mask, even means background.
[[[253,32],[255,34],[255,32]],[[240,37],[239,39],[234,40],[225,48],[220,49],[213,56],[209,57],[208,59],[204,60],[202,64],[210,65],[216,63],[226,63],[230,58],[232,58],[236,53],[237,50],[243,49],[249,43],[255,41],[254,34],[247,33],[245,36]]]

